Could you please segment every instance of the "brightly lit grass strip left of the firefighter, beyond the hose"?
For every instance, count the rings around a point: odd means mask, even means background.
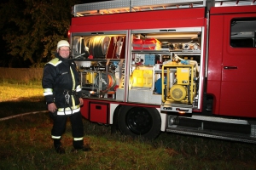
[[[1,82],[0,118],[30,111],[45,111],[43,92],[40,82]]]

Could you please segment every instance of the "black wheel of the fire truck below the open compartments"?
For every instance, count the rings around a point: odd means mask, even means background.
[[[160,113],[155,108],[122,106],[118,125],[120,132],[125,135],[155,139],[160,133]]]

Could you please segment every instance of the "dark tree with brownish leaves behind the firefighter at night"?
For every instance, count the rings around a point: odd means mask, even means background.
[[[67,39],[71,8],[79,0],[9,0],[1,4],[0,29],[12,59],[42,66]],[[12,64],[12,59],[9,59]],[[12,66],[12,65],[9,65]]]

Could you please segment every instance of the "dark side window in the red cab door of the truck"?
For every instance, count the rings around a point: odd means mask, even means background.
[[[239,18],[230,22],[230,46],[256,48],[256,18]]]

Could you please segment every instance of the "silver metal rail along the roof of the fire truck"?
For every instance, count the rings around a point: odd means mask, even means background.
[[[171,8],[199,8],[212,6],[254,5],[256,0],[114,0],[99,3],[83,3],[73,6],[76,17],[95,14],[115,14]]]

